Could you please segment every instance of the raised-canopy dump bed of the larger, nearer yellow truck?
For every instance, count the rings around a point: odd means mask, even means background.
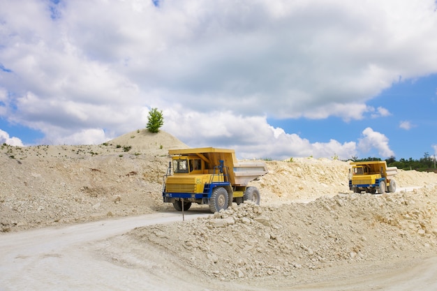
[[[233,186],[246,186],[250,181],[267,174],[267,165],[262,162],[239,162],[235,158],[233,149],[216,149],[214,147],[203,147],[195,149],[170,149],[168,154],[172,156],[198,156],[205,161],[207,170],[212,171],[214,167],[223,165],[228,170],[230,184]]]

